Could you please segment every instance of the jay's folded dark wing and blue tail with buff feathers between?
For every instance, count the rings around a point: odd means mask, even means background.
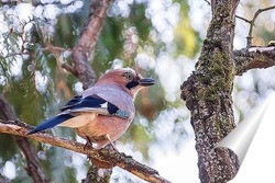
[[[61,111],[62,113],[57,116],[44,121],[37,127],[30,130],[29,134],[45,130],[57,125],[67,127],[85,126],[99,114],[120,118],[129,118],[131,116],[129,112],[120,110],[114,104],[97,95],[87,98],[77,95],[63,106]]]

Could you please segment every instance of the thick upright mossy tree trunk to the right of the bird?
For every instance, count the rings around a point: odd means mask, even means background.
[[[239,170],[237,156],[215,146],[234,127],[232,88],[233,37],[238,0],[212,1],[212,20],[195,71],[182,85],[182,99],[191,112],[199,178],[204,183],[227,182]]]

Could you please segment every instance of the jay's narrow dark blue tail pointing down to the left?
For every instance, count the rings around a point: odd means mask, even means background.
[[[38,125],[35,128],[33,128],[32,130],[30,130],[28,133],[28,135],[35,134],[37,131],[52,128],[52,127],[54,127],[54,126],[56,126],[56,125],[72,118],[72,117],[73,116],[69,115],[69,114],[62,114],[62,115],[58,115],[58,116],[55,116],[55,117],[51,117],[51,118],[44,121],[41,125]]]

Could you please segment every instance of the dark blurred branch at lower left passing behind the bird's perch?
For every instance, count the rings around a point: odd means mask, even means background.
[[[0,94],[0,113],[2,113],[4,118],[7,119],[16,118],[10,104],[3,98],[2,94]],[[28,138],[20,137],[20,136],[13,136],[13,138],[26,159],[25,170],[28,174],[33,179],[34,182],[47,183],[48,181],[46,180],[46,176],[43,173],[42,168],[38,163],[38,157],[34,152],[34,149],[32,148]]]

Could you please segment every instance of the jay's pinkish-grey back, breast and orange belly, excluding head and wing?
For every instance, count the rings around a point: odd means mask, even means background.
[[[106,101],[111,102],[120,110],[125,111],[130,114],[129,118],[105,116],[99,114],[97,117],[91,118],[91,121],[87,123],[87,125],[74,128],[74,130],[80,137],[86,139],[88,137],[91,142],[96,142],[96,148],[100,149],[110,142],[105,138],[106,135],[110,137],[111,141],[116,141],[127,131],[128,127],[134,118],[135,108],[133,99],[116,85],[92,87],[85,92],[84,98],[86,98],[86,95],[88,96],[92,94],[96,94],[105,99]]]

